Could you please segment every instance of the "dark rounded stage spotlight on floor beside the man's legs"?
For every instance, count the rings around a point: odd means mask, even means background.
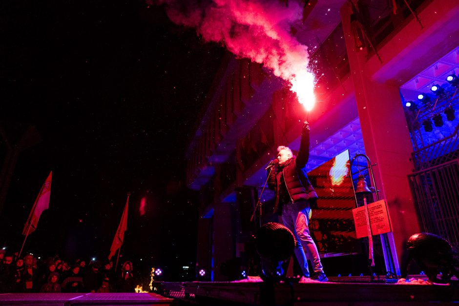
[[[256,232],[256,249],[261,258],[261,279],[279,282],[285,279],[290,256],[295,249],[295,238],[287,227],[270,222]]]

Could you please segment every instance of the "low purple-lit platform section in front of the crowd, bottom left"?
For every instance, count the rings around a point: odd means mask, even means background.
[[[86,306],[155,305],[167,306],[173,299],[156,293],[2,293],[0,305]]]

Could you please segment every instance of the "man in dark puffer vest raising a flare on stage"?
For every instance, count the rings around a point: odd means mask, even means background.
[[[328,281],[320,263],[319,252],[309,232],[311,204],[317,200],[317,194],[304,171],[309,159],[310,125],[304,122],[301,131],[298,156],[292,154],[287,146],[279,146],[277,159],[270,163],[268,187],[275,192],[274,212],[282,216],[284,225],[295,236],[297,247],[295,256],[301,266],[303,276],[310,277],[306,253],[313,263],[311,279]]]

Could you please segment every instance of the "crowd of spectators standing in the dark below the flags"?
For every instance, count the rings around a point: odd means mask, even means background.
[[[112,262],[76,260],[59,256],[22,258],[0,249],[0,292],[134,292],[132,263],[126,261],[115,272]]]

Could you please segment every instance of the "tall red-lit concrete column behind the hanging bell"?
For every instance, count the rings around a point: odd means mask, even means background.
[[[356,50],[350,22],[351,8],[341,9],[355,101],[363,134],[366,155],[372,163],[380,198],[385,199],[392,219],[389,242],[395,262],[402,258],[405,242],[420,231],[407,175],[413,146],[403,112],[398,87],[375,82],[367,67],[367,50]],[[384,63],[381,63],[384,65]],[[398,272],[398,271],[396,271]]]

